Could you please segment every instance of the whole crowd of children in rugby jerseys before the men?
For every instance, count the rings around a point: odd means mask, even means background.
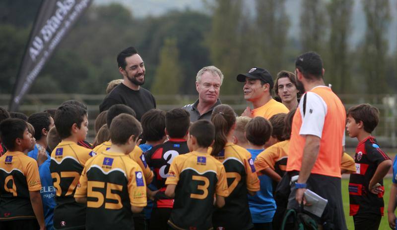
[[[221,104],[210,121],[191,124],[176,108],[149,110],[139,122],[117,104],[96,118],[91,146],[81,102],[18,118],[0,108],[0,229],[278,230],[291,191],[284,175],[295,111],[251,119]],[[356,230],[378,229],[384,212],[392,161],[371,136],[378,123],[369,104],[347,111],[346,134],[359,143],[340,170],[351,174],[342,192]]]

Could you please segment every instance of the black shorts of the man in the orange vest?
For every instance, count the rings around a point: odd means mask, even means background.
[[[292,178],[295,175],[299,175],[298,171],[288,172]],[[327,206],[324,210],[321,218],[306,213],[320,225],[324,226],[324,229],[333,227],[334,230],[347,230],[346,220],[343,214],[343,202],[341,193],[341,181],[337,177],[329,177],[319,174],[311,174],[307,180],[307,188],[317,193],[319,196],[328,200]],[[291,193],[288,198],[288,209],[298,209],[298,202],[295,200],[296,187],[291,185]]]

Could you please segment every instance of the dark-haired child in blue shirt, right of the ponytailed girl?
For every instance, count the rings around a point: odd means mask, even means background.
[[[248,122],[245,127],[245,135],[249,143],[247,150],[251,153],[252,159],[255,159],[258,154],[264,151],[265,143],[268,142],[271,134],[272,126],[265,118],[255,117]],[[272,230],[271,221],[276,210],[276,204],[273,199],[271,179],[266,175],[261,175],[258,178],[261,190],[255,195],[248,196],[252,222],[255,230]]]

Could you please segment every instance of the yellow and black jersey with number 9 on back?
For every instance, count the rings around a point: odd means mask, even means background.
[[[29,191],[41,189],[37,162],[23,152],[0,157],[0,221],[36,219]]]

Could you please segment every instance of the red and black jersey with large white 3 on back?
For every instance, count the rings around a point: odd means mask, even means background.
[[[189,152],[188,144],[185,139],[171,138],[163,144],[152,147],[145,153],[145,159],[149,167],[153,168],[153,183],[159,191],[156,193],[154,207],[172,208],[174,199],[165,196],[165,181],[170,169],[171,163],[178,155]]]

